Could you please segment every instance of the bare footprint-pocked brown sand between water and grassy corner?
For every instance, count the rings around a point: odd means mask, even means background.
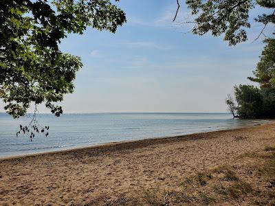
[[[145,190],[181,190],[186,176],[274,144],[270,123],[1,159],[0,205],[120,205]]]

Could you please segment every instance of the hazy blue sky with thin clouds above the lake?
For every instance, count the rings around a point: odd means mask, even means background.
[[[184,1],[175,23],[176,1],[118,5],[128,21],[115,34],[89,28],[61,43],[63,52],[84,63],[75,92],[61,103],[65,113],[226,112],[224,99],[234,85],[250,83],[263,49],[261,38],[253,42],[262,28],[253,19],[248,42],[229,47],[222,36],[188,33],[190,25],[182,22],[192,16]],[[259,8],[251,12],[258,13]]]

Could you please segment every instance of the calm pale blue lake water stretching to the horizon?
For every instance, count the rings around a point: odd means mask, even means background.
[[[50,126],[49,136],[16,136],[19,125],[30,117],[12,119],[0,113],[0,157],[93,146],[114,141],[147,139],[201,133],[263,124],[268,120],[232,119],[227,113],[87,113],[38,115],[41,126]]]

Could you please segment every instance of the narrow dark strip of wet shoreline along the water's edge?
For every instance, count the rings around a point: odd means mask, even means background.
[[[270,119],[268,119],[270,120]],[[67,153],[67,152],[81,152],[81,150],[89,150],[89,149],[102,149],[102,148],[111,148],[111,147],[115,147],[115,146],[124,146],[125,144],[135,144],[135,143],[140,143],[142,144],[143,142],[147,143],[148,145],[146,146],[150,146],[149,144],[157,144],[154,141],[173,141],[175,139],[181,139],[181,141],[188,141],[188,140],[192,140],[192,138],[194,138],[193,136],[197,136],[197,135],[211,135],[211,133],[219,133],[219,132],[226,132],[226,131],[234,131],[234,130],[240,130],[240,129],[245,129],[245,128],[252,128],[255,126],[264,126],[264,125],[268,125],[268,124],[275,124],[274,121],[270,120],[270,122],[267,123],[263,123],[263,124],[252,124],[252,125],[245,125],[245,126],[239,126],[237,128],[228,128],[228,129],[221,129],[221,130],[211,130],[211,131],[207,131],[207,132],[199,132],[199,133],[191,133],[191,134],[187,134],[187,135],[175,135],[175,136],[164,136],[164,137],[148,137],[146,139],[138,139],[138,140],[126,140],[126,141],[113,141],[113,142],[107,142],[107,143],[102,143],[102,144],[96,144],[96,145],[91,145],[91,146],[76,146],[76,147],[72,147],[72,148],[66,148],[63,150],[56,150],[56,151],[49,151],[49,152],[36,152],[36,153],[31,153],[31,154],[23,154],[23,155],[12,155],[12,156],[8,156],[8,157],[0,157],[0,161],[5,161],[5,160],[13,160],[13,159],[24,159],[26,157],[37,157],[37,156],[43,156],[43,155],[58,155],[58,154],[62,154],[62,153]],[[185,138],[185,139],[184,139]],[[202,137],[203,138],[203,137]],[[163,144],[163,143],[159,143],[159,144]],[[145,146],[144,146],[145,147]]]

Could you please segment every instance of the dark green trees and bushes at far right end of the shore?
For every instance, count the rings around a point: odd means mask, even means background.
[[[274,118],[275,117],[275,39],[265,40],[266,46],[261,60],[256,66],[254,78],[260,87],[239,85],[234,87],[234,98],[225,99],[228,109],[234,117]]]

